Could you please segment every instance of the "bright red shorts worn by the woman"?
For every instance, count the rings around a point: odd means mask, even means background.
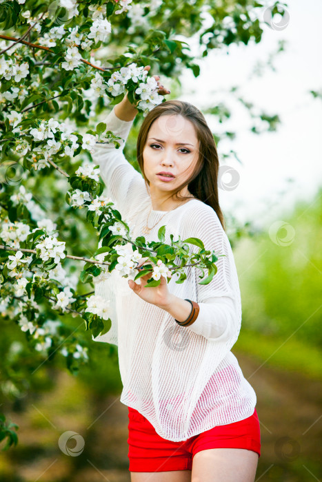
[[[128,407],[128,417],[130,472],[192,470],[194,455],[208,448],[245,448],[261,457],[256,408],[247,419],[210,428],[180,442],[160,437],[150,421],[132,407]]]

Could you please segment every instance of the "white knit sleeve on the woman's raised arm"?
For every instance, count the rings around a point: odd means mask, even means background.
[[[106,195],[112,199],[117,209],[122,210],[126,205],[129,191],[137,193],[145,189],[143,176],[134,169],[123,154],[123,148],[128,138],[133,121],[122,121],[112,111],[104,119],[107,130],[112,131],[115,136],[119,136],[120,143],[117,149],[114,143],[96,144],[92,153],[93,163],[99,165],[101,178],[105,184]]]

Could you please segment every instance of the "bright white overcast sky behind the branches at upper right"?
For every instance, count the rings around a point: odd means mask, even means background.
[[[322,2],[308,0],[304,5],[293,0],[288,13],[288,25],[280,31],[265,26],[259,44],[212,50],[199,61],[198,78],[190,71],[181,76],[181,100],[201,111],[220,102],[232,108],[232,118],[222,125],[217,117],[206,116],[212,132],[237,132],[233,142],[223,140],[219,145],[221,165],[226,164],[221,152],[230,149],[237,151],[243,163],[234,159],[227,162],[240,178],[234,189],[219,189],[219,201],[224,212],[232,211],[239,220],[251,219],[259,226],[283,219],[282,214],[292,212],[296,200],[312,200],[322,185],[322,101],[309,93],[322,90]],[[281,17],[275,19],[279,22]],[[266,63],[282,39],[286,41],[285,51],[273,60],[276,71],[266,67],[262,76],[250,79],[255,65]],[[279,114],[277,132],[259,136],[249,132],[253,121],[248,110],[231,94],[225,94],[233,85],[240,87],[241,96],[254,103],[259,112],[263,109],[270,115]],[[228,184],[231,179],[230,174],[223,176]]]

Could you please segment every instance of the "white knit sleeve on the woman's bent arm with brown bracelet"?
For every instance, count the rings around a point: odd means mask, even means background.
[[[228,237],[221,226],[217,213],[211,207],[204,206],[196,213],[190,213],[185,220],[183,229],[184,238],[199,238],[206,250],[224,254],[215,263],[217,273],[209,284],[199,284],[202,271],[193,268],[197,286],[197,303],[199,315],[194,323],[186,326],[197,335],[210,341],[226,341],[232,344],[236,342],[241,327],[240,291],[237,270],[234,264],[234,256]],[[198,247],[189,244],[194,253]],[[203,270],[205,277],[208,270]]]

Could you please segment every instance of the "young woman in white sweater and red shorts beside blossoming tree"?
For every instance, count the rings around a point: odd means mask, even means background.
[[[159,94],[170,92],[158,84]],[[119,149],[96,145],[92,154],[107,195],[134,225],[132,240],[158,242],[165,225],[165,243],[171,244],[170,235],[199,238],[205,249],[224,256],[207,285],[199,284],[201,271],[188,266],[179,284],[174,275],[149,288],[151,273],[137,284],[113,270],[96,286],[95,293],[110,300],[112,327],[94,339],[119,347],[131,481],[254,482],[259,419],[256,394],[230,351],[241,327],[241,295],[219,207],[214,138],[190,103],[157,105],[137,139],[142,177],[123,155],[136,114],[125,96],[105,119],[124,142]],[[146,260],[135,273],[143,264],[153,266]]]

